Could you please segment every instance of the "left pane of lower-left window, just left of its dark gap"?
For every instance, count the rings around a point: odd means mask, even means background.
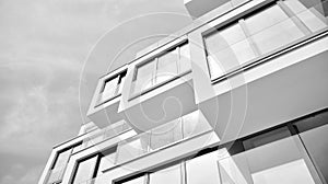
[[[96,160],[97,157],[93,157],[79,163],[73,184],[79,184],[92,179]]]

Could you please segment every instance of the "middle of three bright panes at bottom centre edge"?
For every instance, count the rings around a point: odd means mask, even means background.
[[[150,174],[150,184],[180,184],[181,164],[173,165]]]

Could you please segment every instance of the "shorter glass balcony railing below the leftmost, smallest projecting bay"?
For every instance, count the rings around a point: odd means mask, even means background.
[[[94,146],[96,143],[99,143],[104,140],[114,138],[127,130],[130,130],[131,127],[125,122],[125,120],[120,120],[118,123],[115,123],[106,128],[104,128],[103,130],[101,130],[99,133],[87,137],[83,140],[82,145],[79,147],[79,149],[77,149],[77,151],[85,149],[87,147]]]

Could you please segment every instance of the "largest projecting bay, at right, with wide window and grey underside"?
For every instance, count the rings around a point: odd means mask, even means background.
[[[196,102],[222,142],[328,105],[328,1],[247,4],[253,13],[243,19],[197,31],[209,73],[194,71]]]

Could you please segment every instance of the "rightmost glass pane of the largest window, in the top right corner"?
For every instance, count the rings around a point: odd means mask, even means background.
[[[285,3],[312,32],[319,31],[327,26],[323,21],[325,19],[324,15],[315,9],[316,5],[307,9],[300,0],[285,0],[283,3]]]

